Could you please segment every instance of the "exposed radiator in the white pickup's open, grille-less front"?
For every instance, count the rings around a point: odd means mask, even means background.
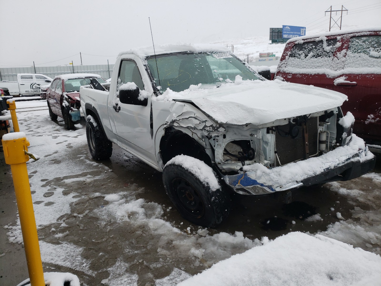
[[[288,131],[290,124],[279,125],[279,129]],[[319,153],[318,150],[318,117],[311,117],[307,121],[308,129],[308,146],[309,156],[315,156]],[[299,127],[299,134],[302,134],[302,127]],[[283,135],[283,134],[282,134]],[[299,161],[303,159],[303,140],[302,138],[291,138],[291,136],[282,137],[278,132],[275,132],[275,149],[279,160],[277,159],[277,165],[285,165],[291,162]]]

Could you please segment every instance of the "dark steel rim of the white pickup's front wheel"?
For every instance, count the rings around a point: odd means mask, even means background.
[[[174,178],[172,189],[182,210],[195,218],[205,213],[204,204],[199,192],[182,178]]]

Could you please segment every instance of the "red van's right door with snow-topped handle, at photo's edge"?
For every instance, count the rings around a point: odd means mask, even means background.
[[[344,114],[355,117],[354,133],[364,139],[381,141],[381,35],[346,37],[343,74],[336,77],[333,90],[344,93]]]

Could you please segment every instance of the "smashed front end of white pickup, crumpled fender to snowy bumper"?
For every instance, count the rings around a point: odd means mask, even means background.
[[[168,119],[166,128],[202,145],[236,193],[269,194],[351,180],[374,168],[375,156],[352,134],[352,114],[343,116],[340,107],[259,125],[233,125],[216,122],[192,105],[181,105],[180,115]]]

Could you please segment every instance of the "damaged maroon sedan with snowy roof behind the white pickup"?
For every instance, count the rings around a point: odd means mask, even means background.
[[[54,121],[57,120],[58,116],[62,117],[65,129],[74,129],[74,122],[81,118],[79,88],[83,85],[91,85],[91,79],[96,79],[101,84],[106,83],[98,74],[56,76],[46,90],[50,119]]]

